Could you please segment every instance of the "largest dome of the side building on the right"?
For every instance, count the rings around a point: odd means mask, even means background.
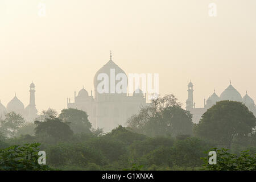
[[[241,94],[231,85],[228,86],[220,95],[220,100],[238,101],[242,102]]]

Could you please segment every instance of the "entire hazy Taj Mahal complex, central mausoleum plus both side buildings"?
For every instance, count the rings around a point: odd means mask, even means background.
[[[100,82],[98,80],[98,75],[105,73],[110,77],[110,69],[114,69],[115,73],[123,73],[126,75],[123,69],[114,63],[112,60],[112,53],[110,52],[110,60],[94,75],[94,96],[92,90],[89,94],[88,91],[82,87],[78,94],[76,94],[76,92],[74,93],[73,102],[71,102],[71,98],[67,98],[68,109],[73,108],[85,111],[88,114],[89,122],[92,123],[92,127],[94,129],[104,129],[105,132],[111,131],[113,128],[118,127],[118,125],[124,126],[127,119],[134,114],[138,114],[142,107],[150,105],[150,103],[147,102],[146,93],[143,93],[139,88],[135,89],[133,94],[98,92],[98,84]],[[125,82],[127,83],[127,76],[125,79]],[[115,80],[114,84],[117,85],[118,81]],[[247,92],[245,96],[242,97],[233,87],[231,81],[220,96],[218,96],[214,90],[213,94],[209,96],[207,100],[204,99],[204,107],[196,107],[196,104],[193,101],[193,86],[193,83],[190,81],[187,90],[188,99],[185,107],[185,109],[190,111],[193,115],[193,123],[198,123],[201,119],[201,115],[203,115],[205,111],[216,104],[216,102],[223,100],[242,102],[254,115],[256,115],[254,100],[247,94]],[[110,83],[106,87],[110,89]],[[24,104],[19,100],[16,94],[6,107],[1,104],[0,101],[0,119],[4,119],[6,113],[14,111],[15,113],[22,115],[27,122],[34,122],[36,117],[38,117],[38,110],[35,105],[35,84],[33,82],[30,84],[29,92],[30,104],[28,104],[27,107],[24,107]]]

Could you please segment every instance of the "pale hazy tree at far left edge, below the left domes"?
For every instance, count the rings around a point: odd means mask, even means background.
[[[1,121],[1,131],[6,137],[14,137],[24,122],[22,115],[12,111],[5,114],[5,119]]]

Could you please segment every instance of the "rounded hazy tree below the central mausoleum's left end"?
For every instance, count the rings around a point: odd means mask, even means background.
[[[78,109],[63,109],[59,115],[63,122],[69,122],[75,134],[92,133],[92,124],[88,121],[88,114]]]

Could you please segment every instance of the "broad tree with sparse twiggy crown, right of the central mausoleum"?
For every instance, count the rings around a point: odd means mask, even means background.
[[[152,100],[127,121],[128,127],[149,137],[191,135],[192,125],[192,114],[182,109],[172,94]]]

